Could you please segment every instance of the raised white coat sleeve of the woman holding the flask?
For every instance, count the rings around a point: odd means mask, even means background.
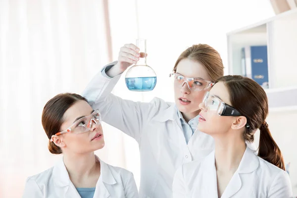
[[[121,75],[114,78],[106,76],[105,68],[110,65],[103,67],[91,80],[82,96],[88,100],[93,109],[99,109],[102,121],[139,142],[143,126],[148,122],[149,114],[155,109],[155,105],[151,102],[125,100],[111,94]]]

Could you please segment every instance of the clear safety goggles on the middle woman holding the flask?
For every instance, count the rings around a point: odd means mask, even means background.
[[[174,82],[180,87],[183,87],[186,83],[188,88],[193,91],[206,90],[214,85],[213,82],[202,80],[201,78],[188,78],[175,72],[169,74],[169,77],[174,77]]]

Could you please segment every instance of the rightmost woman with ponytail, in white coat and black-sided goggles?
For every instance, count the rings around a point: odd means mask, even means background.
[[[282,153],[265,121],[268,101],[260,85],[246,77],[224,76],[205,94],[200,108],[198,130],[213,137],[215,149],[177,170],[174,198],[292,196]],[[253,141],[257,129],[258,156],[245,143]]]

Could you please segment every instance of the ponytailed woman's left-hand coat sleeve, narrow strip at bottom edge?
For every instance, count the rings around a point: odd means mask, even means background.
[[[172,184],[173,198],[188,198],[186,183],[183,174],[183,166],[177,169]]]

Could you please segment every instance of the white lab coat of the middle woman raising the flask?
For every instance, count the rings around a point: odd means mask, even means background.
[[[106,78],[99,72],[82,95],[93,109],[99,109],[104,122],[138,142],[140,197],[170,198],[177,168],[208,155],[214,148],[214,141],[211,136],[196,131],[187,145],[174,103],[159,98],[147,103],[116,97],[110,92],[119,78],[120,75]]]

